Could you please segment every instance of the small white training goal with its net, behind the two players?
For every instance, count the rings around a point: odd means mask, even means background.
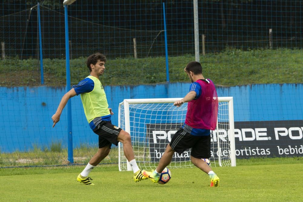
[[[132,137],[135,159],[141,169],[155,169],[167,144],[184,124],[187,103],[175,107],[182,98],[125,99],[119,104],[119,127]],[[119,171],[131,167],[119,142]],[[191,150],[175,152],[169,168],[195,167],[190,161]],[[232,97],[219,97],[217,127],[211,131],[210,166],[235,166],[235,135]]]

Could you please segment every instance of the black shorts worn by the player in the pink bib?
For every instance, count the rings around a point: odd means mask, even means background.
[[[191,156],[195,158],[210,158],[210,135],[195,136],[180,128],[171,138],[171,148],[178,154],[191,148]]]

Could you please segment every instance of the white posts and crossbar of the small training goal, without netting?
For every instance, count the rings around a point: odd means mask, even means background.
[[[123,104],[124,106],[124,126],[125,131],[131,134],[130,131],[130,117],[129,117],[129,104],[153,104],[153,103],[174,103],[175,101],[181,100],[182,98],[147,98],[147,99],[124,99],[123,102],[121,102],[119,105]],[[228,115],[229,115],[229,142],[230,142],[230,158],[231,158],[231,166],[236,166],[236,154],[235,154],[235,126],[234,126],[234,106],[233,106],[233,97],[218,97],[219,102],[228,102]],[[119,127],[121,127],[120,122],[120,114],[121,109],[119,106],[118,111],[118,122]],[[217,127],[218,127],[218,121],[217,121]],[[215,133],[215,131],[214,131]],[[121,142],[118,144],[118,166],[119,171],[121,170]],[[218,148],[220,148],[219,141],[218,141]],[[219,166],[221,167],[221,161],[219,158]],[[127,161],[127,171],[131,171],[132,168]]]

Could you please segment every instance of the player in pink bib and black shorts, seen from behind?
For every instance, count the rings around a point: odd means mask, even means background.
[[[211,157],[210,130],[215,130],[218,118],[218,95],[214,83],[202,75],[199,62],[189,62],[184,71],[192,82],[189,93],[174,105],[180,107],[188,102],[185,124],[175,133],[167,145],[155,171],[142,171],[145,177],[158,182],[161,172],[170,164],[173,154],[181,154],[191,148],[191,162],[209,175],[211,187],[219,186],[219,177],[204,159]]]

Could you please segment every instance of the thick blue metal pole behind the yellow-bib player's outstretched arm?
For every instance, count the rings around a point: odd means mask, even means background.
[[[70,64],[69,64],[69,41],[68,41],[68,16],[67,5],[64,5],[65,15],[65,57],[66,57],[66,91],[71,89]],[[69,99],[67,102],[67,130],[68,130],[68,157],[70,163],[74,163],[73,157],[73,136],[72,136],[72,104]]]

